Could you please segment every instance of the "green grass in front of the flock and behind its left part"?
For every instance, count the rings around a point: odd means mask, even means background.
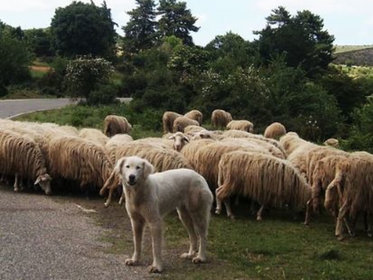
[[[64,109],[37,112],[17,119],[50,121],[78,127],[102,128],[108,113],[125,115],[134,125],[134,137],[160,135],[161,114],[155,111],[135,112],[130,106],[117,104],[92,108],[68,106]],[[97,223],[108,229],[102,240],[112,246],[108,253],[131,255],[132,233],[129,219],[116,203],[104,209],[102,201]],[[88,203],[88,202],[87,202]],[[339,242],[334,236],[334,221],[322,214],[308,227],[304,215],[293,218],[289,210],[270,210],[257,222],[248,203],[233,208],[236,220],[224,214],[213,215],[209,227],[209,263],[193,265],[176,256],[188,249],[187,233],[175,212],[164,222],[163,251],[168,279],[371,279],[373,275],[373,243],[365,237],[358,221],[356,237]],[[150,237],[145,234],[144,265],[150,264]]]

